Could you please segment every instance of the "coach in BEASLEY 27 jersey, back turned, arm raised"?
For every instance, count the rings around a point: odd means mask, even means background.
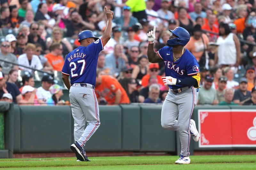
[[[107,24],[102,37],[85,30],[78,34],[80,46],[71,51],[62,68],[62,79],[69,89],[72,115],[75,121],[75,143],[70,146],[77,161],[90,161],[84,145],[100,126],[99,106],[95,95],[98,56],[111,38],[113,12],[105,7]],[[68,77],[70,76],[70,82]],[[87,126],[85,127],[85,123]]]

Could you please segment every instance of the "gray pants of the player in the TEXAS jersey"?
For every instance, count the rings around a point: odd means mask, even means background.
[[[161,125],[164,129],[179,131],[180,154],[183,156],[189,156],[190,118],[197,98],[198,92],[193,87],[178,94],[172,93],[169,89],[162,107]]]

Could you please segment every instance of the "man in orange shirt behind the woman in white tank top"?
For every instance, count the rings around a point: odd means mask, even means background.
[[[215,14],[210,14],[208,18],[208,22],[205,22],[205,24],[202,26],[202,30],[211,31],[216,34],[210,33],[210,42],[215,42],[218,38],[219,34],[219,28],[217,25],[214,24],[216,20]]]

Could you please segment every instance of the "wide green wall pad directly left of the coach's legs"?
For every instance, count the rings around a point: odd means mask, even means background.
[[[20,106],[20,152],[69,152],[69,106]]]

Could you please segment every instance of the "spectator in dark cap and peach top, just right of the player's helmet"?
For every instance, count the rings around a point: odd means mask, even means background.
[[[208,48],[209,38],[206,34],[202,32],[200,25],[195,25],[193,29],[193,36],[190,37],[190,40],[186,44],[186,48],[196,57],[199,65],[205,65],[206,62],[206,53],[205,51]],[[200,60],[202,57],[202,60]],[[200,61],[200,62],[199,62]]]

